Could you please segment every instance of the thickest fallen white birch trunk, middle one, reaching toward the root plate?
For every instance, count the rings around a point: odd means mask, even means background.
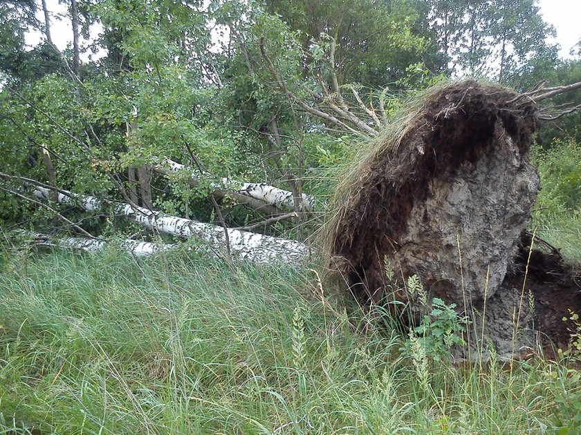
[[[38,199],[48,200],[50,189],[37,187],[33,194]],[[103,208],[102,202],[93,196],[59,192],[57,201],[64,204],[76,204],[86,211],[98,211]],[[210,244],[211,247],[219,249],[221,252],[225,251],[225,230],[221,226],[175,216],[163,216],[158,211],[133,207],[129,204],[112,204],[111,208],[114,213],[134,220],[149,229],[183,238],[196,236]],[[228,239],[232,254],[252,262],[272,263],[277,260],[295,262],[308,255],[308,247],[296,240],[275,238],[270,235],[236,229],[228,229]]]

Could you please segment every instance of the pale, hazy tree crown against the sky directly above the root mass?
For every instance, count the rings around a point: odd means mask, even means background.
[[[416,6],[425,17],[420,26],[434,41],[436,68],[522,86],[531,74],[542,79],[557,61],[557,47],[546,42],[555,30],[535,3],[430,0],[416,1]]]

